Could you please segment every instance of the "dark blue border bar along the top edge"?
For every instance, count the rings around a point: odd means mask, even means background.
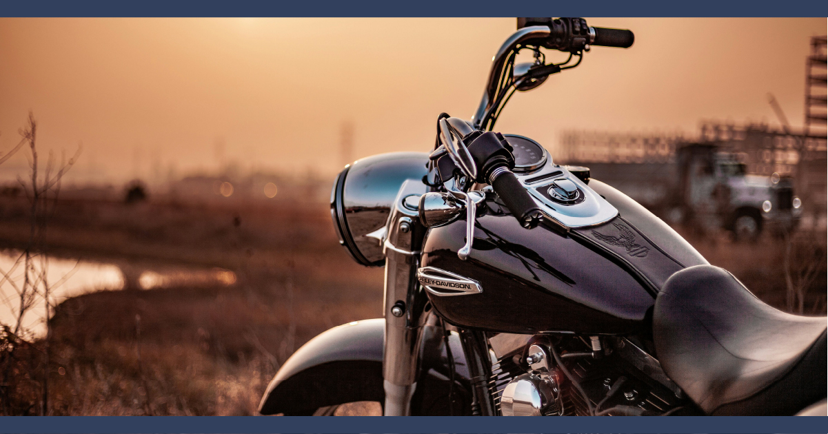
[[[826,17],[825,0],[2,0],[2,17]]]

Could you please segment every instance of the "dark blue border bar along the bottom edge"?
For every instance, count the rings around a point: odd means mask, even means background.
[[[826,422],[828,417],[0,417],[0,433],[806,434],[828,431]]]

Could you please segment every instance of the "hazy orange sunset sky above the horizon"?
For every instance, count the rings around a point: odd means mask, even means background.
[[[776,123],[768,92],[801,125],[809,38],[826,34],[825,18],[587,21],[629,28],[635,45],[595,47],[577,69],[515,95],[498,131],[530,136],[554,158],[570,128]],[[343,122],[357,158],[429,150],[437,114],[471,117],[514,30],[513,18],[2,18],[0,151],[31,109],[42,146],[83,142],[78,179],[97,168],[114,182],[152,182],[220,160],[330,176]]]

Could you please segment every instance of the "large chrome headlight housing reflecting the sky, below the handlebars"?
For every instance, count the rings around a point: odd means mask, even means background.
[[[385,226],[394,198],[407,179],[422,179],[428,154],[392,152],[345,166],[330,192],[330,217],[339,244],[366,266],[383,265],[383,246],[368,234]]]

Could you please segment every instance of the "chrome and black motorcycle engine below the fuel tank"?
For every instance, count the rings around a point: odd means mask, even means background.
[[[489,391],[503,416],[647,416],[691,406],[627,338],[501,333],[490,344]]]

